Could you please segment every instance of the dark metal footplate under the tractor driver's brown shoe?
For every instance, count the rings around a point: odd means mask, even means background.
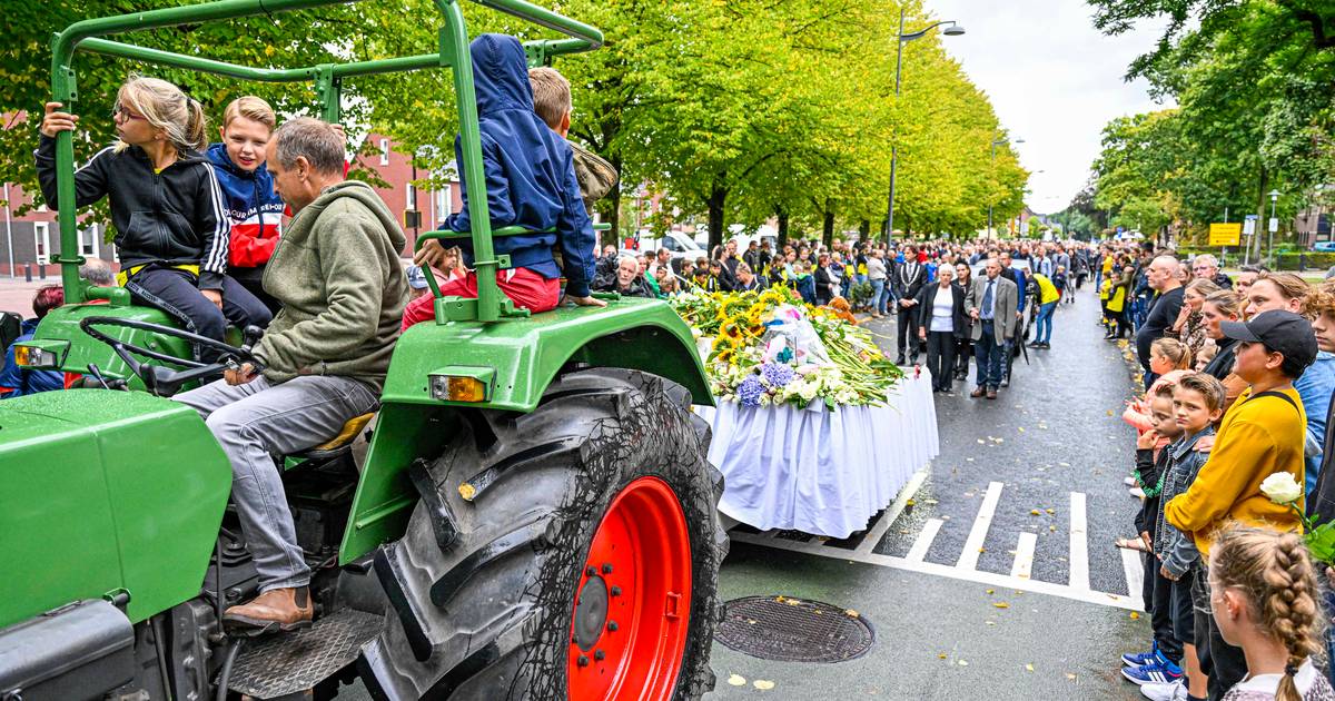
[[[382,616],[342,609],[310,628],[247,640],[227,686],[255,698],[311,689],[355,661],[383,622]]]

